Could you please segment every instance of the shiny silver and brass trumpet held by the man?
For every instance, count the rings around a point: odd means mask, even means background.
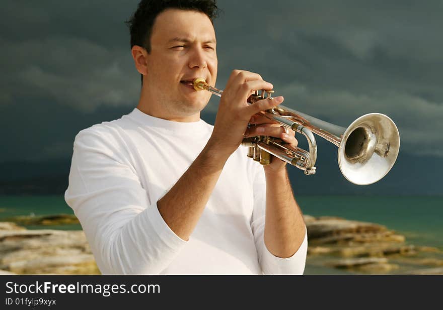
[[[194,80],[194,88],[207,90],[220,97],[223,94],[223,90],[210,86],[203,78]],[[274,90],[256,90],[247,101],[254,104],[261,99],[272,99],[273,93]],[[248,157],[263,165],[269,164],[273,155],[301,169],[306,175],[315,174],[316,134],[338,147],[338,166],[348,181],[368,185],[379,181],[391,170],[400,150],[397,126],[384,114],[360,116],[344,128],[281,105],[260,113],[283,128],[305,136],[309,146],[309,151],[306,151],[299,147],[290,147],[274,137],[244,138],[242,145],[249,147]]]

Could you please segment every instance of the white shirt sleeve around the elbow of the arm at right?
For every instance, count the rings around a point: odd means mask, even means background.
[[[257,166],[253,180],[254,210],[251,219],[252,233],[257,248],[258,260],[263,274],[303,274],[308,252],[308,233],[305,226],[305,238],[296,253],[291,257],[281,258],[273,255],[264,242],[266,180],[263,168]]]

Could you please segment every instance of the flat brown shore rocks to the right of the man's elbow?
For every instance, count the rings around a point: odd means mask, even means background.
[[[409,244],[387,227],[342,218],[305,215],[307,265],[354,274],[443,274],[443,252]]]

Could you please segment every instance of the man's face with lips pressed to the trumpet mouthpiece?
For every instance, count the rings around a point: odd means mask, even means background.
[[[178,119],[199,115],[211,96],[196,91],[192,81],[210,85],[217,76],[215,32],[209,18],[196,11],[168,9],[159,14],[151,35],[144,82],[149,93]]]

